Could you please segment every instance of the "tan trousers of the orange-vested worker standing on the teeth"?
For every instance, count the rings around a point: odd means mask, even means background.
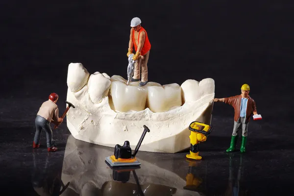
[[[147,62],[149,58],[149,52],[150,50],[144,55],[139,56],[137,59],[137,62],[135,63],[135,70],[134,70],[134,79],[140,79],[140,70],[142,67],[142,73],[141,73],[141,82],[146,82],[148,80],[148,68],[147,68]]]

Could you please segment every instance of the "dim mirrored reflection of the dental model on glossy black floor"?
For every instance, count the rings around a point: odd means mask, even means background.
[[[61,196],[129,196],[137,190],[134,176],[127,183],[112,179],[112,170],[104,157],[113,148],[94,146],[76,141],[69,136],[62,168],[62,181],[69,187]],[[140,155],[138,155],[139,157]],[[142,156],[141,156],[142,157]],[[141,168],[136,170],[138,181],[145,196],[200,196],[184,190],[186,180],[174,172],[140,159]]]

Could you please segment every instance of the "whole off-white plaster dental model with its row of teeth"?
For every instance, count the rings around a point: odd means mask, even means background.
[[[76,107],[67,114],[67,125],[78,140],[114,147],[127,139],[135,145],[146,124],[152,134],[140,150],[174,153],[190,147],[191,122],[211,122],[211,78],[189,79],[181,86],[148,82],[140,87],[138,82],[126,85],[119,75],[90,75],[82,64],[71,63],[67,84],[67,100]]]

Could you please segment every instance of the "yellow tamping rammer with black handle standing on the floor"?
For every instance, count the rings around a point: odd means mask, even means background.
[[[204,128],[200,130],[200,126]],[[199,142],[205,142],[206,136],[209,135],[212,131],[212,126],[199,122],[192,122],[189,126],[189,130],[191,130],[190,137],[190,154],[187,154],[186,157],[189,159],[201,160],[202,157],[199,156]]]

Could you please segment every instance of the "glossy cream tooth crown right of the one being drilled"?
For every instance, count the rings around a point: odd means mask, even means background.
[[[181,87],[176,84],[148,85],[147,107],[152,112],[166,112],[182,104]]]

